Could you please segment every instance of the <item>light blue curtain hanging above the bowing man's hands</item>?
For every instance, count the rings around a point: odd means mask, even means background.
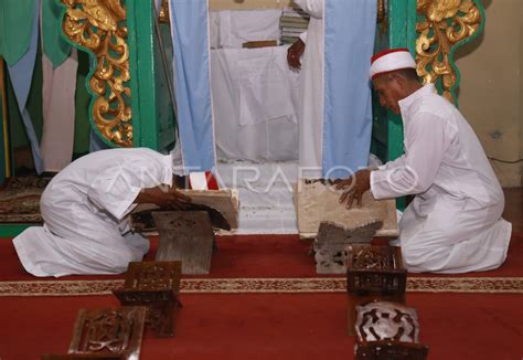
[[[207,0],[170,0],[178,126],[185,171],[213,170]]]

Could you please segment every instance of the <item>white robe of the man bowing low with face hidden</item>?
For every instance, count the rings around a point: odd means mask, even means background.
[[[172,184],[172,159],[150,149],[84,156],[58,172],[40,202],[43,226],[13,240],[30,274],[118,274],[141,261],[149,241],[129,232],[127,214],[141,189]]]

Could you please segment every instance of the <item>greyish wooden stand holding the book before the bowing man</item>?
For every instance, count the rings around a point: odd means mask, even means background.
[[[181,261],[182,274],[209,274],[214,232],[205,211],[153,212],[160,234],[157,261]]]

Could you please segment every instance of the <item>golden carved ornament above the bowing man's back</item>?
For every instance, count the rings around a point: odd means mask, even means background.
[[[93,121],[110,144],[131,147],[129,47],[126,9],[120,0],[61,0],[67,9],[64,33],[96,56],[89,80]]]

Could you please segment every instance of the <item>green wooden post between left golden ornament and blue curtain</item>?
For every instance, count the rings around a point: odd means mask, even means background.
[[[161,151],[174,146],[175,120],[168,87],[170,59],[160,52],[162,42],[169,54],[170,40],[159,39],[169,33],[162,25],[157,31],[154,17],[152,1],[127,1],[134,146]]]

